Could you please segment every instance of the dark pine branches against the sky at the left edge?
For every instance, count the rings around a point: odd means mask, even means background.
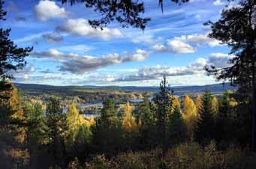
[[[5,21],[4,1],[0,0],[0,21]],[[13,78],[10,71],[16,71],[26,65],[25,57],[32,48],[18,48],[9,39],[11,29],[0,28],[0,80]]]

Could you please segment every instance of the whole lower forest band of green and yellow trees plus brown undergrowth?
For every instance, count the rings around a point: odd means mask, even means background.
[[[164,77],[152,100],[83,117],[61,99],[24,99],[1,82],[0,168],[254,168],[249,102],[227,90],[176,97]],[[45,108],[43,108],[43,105]]]

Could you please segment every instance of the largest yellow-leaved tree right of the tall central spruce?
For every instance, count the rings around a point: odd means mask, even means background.
[[[198,115],[197,107],[190,96],[185,96],[182,117],[185,120],[185,125],[187,127],[187,137],[188,139],[193,139]]]

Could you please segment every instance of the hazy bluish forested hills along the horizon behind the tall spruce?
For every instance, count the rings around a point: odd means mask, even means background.
[[[115,90],[119,92],[151,92],[158,91],[158,87],[137,87],[137,86],[53,86],[45,84],[19,84],[16,86],[29,95],[38,94],[60,94],[67,96],[76,96],[83,93],[105,93],[115,94]],[[236,90],[236,87],[225,84],[208,84],[208,85],[193,85],[193,86],[176,86],[173,87],[175,95],[182,96],[184,94],[203,93],[205,90],[210,90],[212,93],[222,93],[224,90]],[[117,93],[116,93],[117,94]]]

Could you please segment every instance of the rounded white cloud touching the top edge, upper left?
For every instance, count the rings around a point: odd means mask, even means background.
[[[65,18],[67,13],[64,7],[59,7],[55,1],[39,1],[34,7],[35,16],[41,21],[53,18]]]

